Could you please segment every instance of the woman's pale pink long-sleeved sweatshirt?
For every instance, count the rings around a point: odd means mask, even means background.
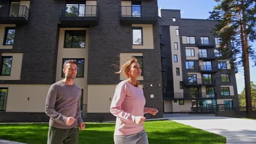
[[[115,88],[110,112],[116,116],[114,135],[130,135],[143,131],[143,124],[136,124],[135,117],[147,113],[143,89],[131,85],[128,81],[120,82]]]

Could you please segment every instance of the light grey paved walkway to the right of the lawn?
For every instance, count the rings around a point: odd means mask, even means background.
[[[227,144],[256,144],[256,120],[214,115],[166,114],[165,118],[226,137]]]

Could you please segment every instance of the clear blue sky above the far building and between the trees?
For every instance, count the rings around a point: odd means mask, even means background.
[[[158,0],[158,8],[181,10],[181,18],[191,19],[207,19],[210,16],[210,11],[217,5],[214,0]],[[256,49],[256,42],[253,43],[253,48]],[[256,67],[253,67],[253,62],[250,62],[250,78],[256,82]],[[244,88],[243,72],[236,74],[237,91],[240,94]]]

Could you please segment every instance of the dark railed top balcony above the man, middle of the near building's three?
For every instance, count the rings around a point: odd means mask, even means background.
[[[59,21],[63,26],[98,24],[98,6],[61,6]]]

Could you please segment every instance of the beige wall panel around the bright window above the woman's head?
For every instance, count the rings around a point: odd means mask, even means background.
[[[132,49],[154,49],[153,25],[133,24],[133,27],[142,27],[143,45],[132,45]]]

